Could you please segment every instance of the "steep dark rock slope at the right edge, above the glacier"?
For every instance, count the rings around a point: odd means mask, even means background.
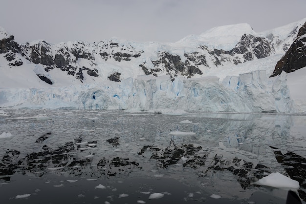
[[[282,71],[294,72],[306,66],[306,22],[299,29],[296,40],[291,44],[286,54],[277,62],[271,77],[280,75]]]

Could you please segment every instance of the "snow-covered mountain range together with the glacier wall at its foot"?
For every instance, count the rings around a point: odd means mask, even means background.
[[[305,21],[262,33],[221,26],[175,43],[18,44],[1,28],[0,106],[292,112],[285,77],[268,76]]]

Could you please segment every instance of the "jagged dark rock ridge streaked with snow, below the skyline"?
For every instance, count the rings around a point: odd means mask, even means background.
[[[75,41],[49,44],[36,41],[18,44],[14,36],[1,35],[0,54],[7,64],[19,67],[35,64],[36,75],[44,82],[53,84],[50,70],[59,69],[81,82],[97,78],[120,82],[135,75],[170,75],[185,78],[200,77],[207,69],[224,65],[237,65],[246,61],[262,59],[281,50],[289,49],[301,22],[296,23],[286,37],[277,33],[243,34],[235,47],[216,49],[199,41],[196,46],[180,43],[140,43],[111,39],[97,43]],[[237,27],[236,27],[237,28]],[[3,31],[3,29],[1,30]],[[223,36],[223,38],[225,38]],[[291,43],[290,43],[291,42]]]

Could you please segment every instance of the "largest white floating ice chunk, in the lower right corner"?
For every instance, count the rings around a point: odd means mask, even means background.
[[[271,173],[268,176],[263,177],[258,182],[255,182],[253,184],[266,185],[266,186],[272,186],[276,188],[285,188],[285,189],[287,188],[299,189],[300,188],[299,182],[292,180],[279,172]]]

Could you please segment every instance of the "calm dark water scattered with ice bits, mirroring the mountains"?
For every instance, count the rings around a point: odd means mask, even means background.
[[[3,109],[0,202],[285,203],[286,190],[252,184],[272,172],[306,201],[305,119]]]

